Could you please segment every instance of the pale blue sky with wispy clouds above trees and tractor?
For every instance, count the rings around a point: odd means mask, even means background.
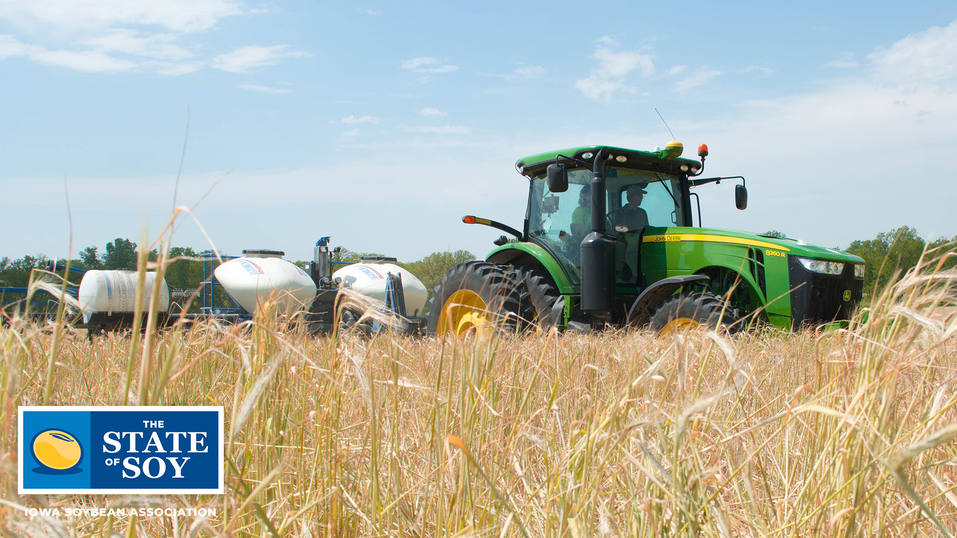
[[[525,155],[711,148],[707,226],[824,246],[957,235],[957,4],[0,0],[0,256],[66,256],[178,203],[229,254],[321,235],[479,257]],[[218,183],[217,183],[218,182]],[[214,188],[213,188],[214,186]],[[210,189],[212,190],[210,191]],[[174,244],[205,248],[184,223]]]

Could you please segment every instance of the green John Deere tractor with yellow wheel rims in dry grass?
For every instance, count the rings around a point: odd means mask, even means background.
[[[701,178],[701,161],[663,150],[584,146],[525,157],[524,226],[465,216],[502,235],[485,261],[454,267],[435,288],[429,332],[482,326],[659,332],[756,319],[788,329],[846,323],[861,299],[863,259],[772,235],[701,228],[693,190],[745,178]],[[695,226],[693,216],[698,216]]]

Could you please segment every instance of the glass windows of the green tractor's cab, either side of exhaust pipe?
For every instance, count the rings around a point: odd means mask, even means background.
[[[591,231],[591,170],[568,170],[568,191],[551,192],[545,175],[532,180],[528,233],[559,260],[572,285],[581,281],[580,245]],[[641,231],[648,226],[684,223],[678,176],[647,170],[609,167],[605,170],[606,228],[622,241],[615,249],[615,280],[634,285],[640,277]]]

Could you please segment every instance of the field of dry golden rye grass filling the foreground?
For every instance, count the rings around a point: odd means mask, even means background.
[[[90,343],[14,320],[0,329],[0,531],[953,533],[957,320],[933,314],[953,302],[957,277],[926,265],[876,300],[868,322],[827,333],[369,341],[309,337],[267,315]],[[226,495],[17,495],[16,406],[44,402],[225,406]],[[22,510],[55,505],[218,513]]]

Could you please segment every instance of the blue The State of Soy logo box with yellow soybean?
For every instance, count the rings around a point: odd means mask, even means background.
[[[222,494],[222,407],[20,407],[19,493]]]

